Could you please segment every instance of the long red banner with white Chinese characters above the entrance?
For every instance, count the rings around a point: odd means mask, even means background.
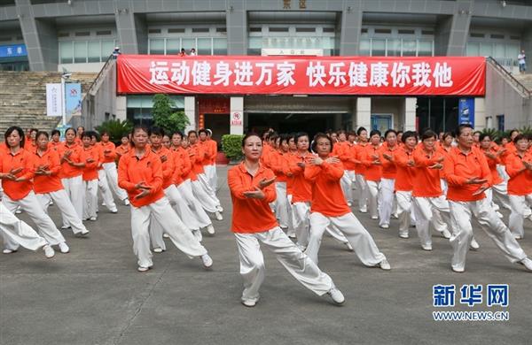
[[[485,58],[118,58],[120,94],[483,96],[485,79]]]

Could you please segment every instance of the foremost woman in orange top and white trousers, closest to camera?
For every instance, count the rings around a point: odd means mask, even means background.
[[[254,307],[264,280],[261,242],[278,257],[296,280],[317,295],[328,294],[334,303],[344,303],[344,296],[325,272],[307,257],[281,230],[270,204],[276,198],[275,174],[260,163],[262,141],[257,134],[242,140],[244,161],[227,174],[232,201],[231,231],[237,240],[240,275],[244,280],[241,302]]]

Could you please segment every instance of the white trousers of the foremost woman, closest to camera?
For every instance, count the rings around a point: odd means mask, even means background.
[[[285,266],[286,271],[305,288],[309,288],[317,295],[325,295],[334,287],[331,277],[301,252],[301,249],[290,241],[278,226],[263,233],[235,233],[235,238],[239,248],[240,275],[244,280],[243,301],[259,299],[259,288],[264,280],[265,271],[261,242],[276,255],[278,262]]]

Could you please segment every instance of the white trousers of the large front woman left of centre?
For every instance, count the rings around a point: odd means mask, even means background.
[[[131,235],[133,236],[133,252],[138,257],[138,265],[151,267],[152,251],[150,250],[150,219],[156,219],[165,233],[170,236],[177,249],[189,257],[201,257],[207,254],[205,249],[183,222],[177,217],[168,199],[160,200],[142,207],[131,205]]]

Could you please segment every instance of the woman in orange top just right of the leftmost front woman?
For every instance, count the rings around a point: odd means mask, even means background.
[[[74,205],[70,202],[59,179],[59,170],[61,169],[59,153],[49,144],[48,133],[38,132],[36,143],[34,191],[43,211],[48,213],[48,206],[53,201],[58,206],[65,223],[72,226],[74,234],[89,234],[89,230],[75,212]]]

